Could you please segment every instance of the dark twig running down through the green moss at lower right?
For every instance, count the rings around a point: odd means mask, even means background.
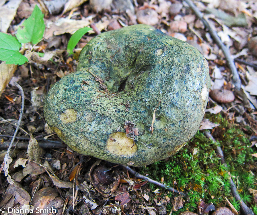
[[[217,142],[209,132],[203,132],[203,133],[207,138],[210,138],[214,142]],[[224,159],[223,151],[222,151],[220,146],[217,146],[217,153],[221,157],[221,163],[224,164],[225,167],[227,167],[227,164],[226,164],[225,159]],[[231,186],[230,187],[231,193],[235,197],[235,200],[239,202],[242,213],[244,215],[254,215],[252,210],[250,208],[248,208],[247,205],[240,198],[240,196],[237,192],[235,183],[234,183],[233,179],[231,178],[230,172],[228,171],[228,173],[229,173],[229,183],[230,183],[230,186]]]

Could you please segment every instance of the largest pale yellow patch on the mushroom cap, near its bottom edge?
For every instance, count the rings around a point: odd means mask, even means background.
[[[130,157],[137,152],[137,145],[133,144],[124,132],[116,132],[108,138],[106,148],[114,155]]]

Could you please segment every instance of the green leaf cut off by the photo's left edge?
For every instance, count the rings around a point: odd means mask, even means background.
[[[19,65],[28,62],[28,58],[19,52],[21,46],[15,37],[0,32],[0,60]]]

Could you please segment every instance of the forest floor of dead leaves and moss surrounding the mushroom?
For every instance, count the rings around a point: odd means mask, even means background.
[[[22,105],[20,91],[13,82],[17,81],[25,93],[16,147],[10,153],[13,161],[9,175],[14,184],[7,181],[1,169],[0,207],[6,210],[1,210],[2,214],[21,214],[14,209],[8,213],[7,208],[33,210],[30,214],[158,215],[184,211],[225,214],[217,210],[221,207],[243,214],[240,202],[231,193],[230,178],[242,201],[257,214],[256,1],[194,1],[235,59],[238,79],[217,41],[184,1],[95,0],[79,6],[77,2],[82,1],[61,1],[63,6],[66,3],[65,9],[54,11],[42,1],[20,0],[16,1],[19,4],[14,13],[8,2],[12,1],[0,1],[0,17],[5,14],[13,17],[1,32],[14,35],[36,4],[44,13],[46,30],[43,40],[34,47],[42,54],[33,54],[28,63],[17,67],[0,97],[0,159],[3,162]],[[66,9],[71,2],[75,6]],[[76,71],[78,54],[86,43],[100,32],[134,24],[149,24],[190,43],[209,63],[210,91],[216,93],[210,94],[198,132],[176,155],[133,168],[185,196],[139,179],[120,165],[67,150],[44,119],[46,94],[55,82]],[[75,54],[69,55],[66,49],[71,33],[86,26],[91,26],[93,31],[85,34]],[[0,81],[3,84],[6,80]],[[242,84],[240,93],[235,89],[238,82]],[[221,92],[221,97],[217,97],[217,92]],[[207,138],[204,132],[209,132],[214,139]],[[223,150],[227,165],[222,163],[217,147]],[[35,155],[35,151],[39,154]],[[40,213],[36,208],[56,209],[56,213],[49,210]]]

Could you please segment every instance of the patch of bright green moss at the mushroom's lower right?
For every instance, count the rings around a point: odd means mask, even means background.
[[[207,117],[210,121],[220,124],[211,131],[219,142],[209,140],[198,131],[173,157],[140,168],[141,173],[148,173],[158,181],[164,177],[164,183],[167,186],[179,188],[188,194],[188,197],[184,198],[186,201],[184,207],[172,214],[178,214],[186,208],[196,212],[200,199],[208,203],[213,202],[216,207],[225,206],[225,197],[239,210],[239,203],[235,201],[230,192],[228,171],[238,187],[241,198],[248,206],[254,206],[252,194],[248,189],[257,188],[254,169],[257,159],[251,155],[257,150],[249,147],[251,145],[248,140],[249,136],[244,130],[231,125],[221,114],[207,115]],[[220,157],[216,153],[217,146],[223,149],[228,167],[221,165]],[[174,194],[169,192],[168,196],[172,198]]]

